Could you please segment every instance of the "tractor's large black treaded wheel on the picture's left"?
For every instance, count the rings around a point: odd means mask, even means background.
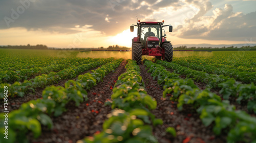
[[[142,45],[141,43],[133,43],[132,47],[132,59],[137,62],[137,64],[141,64],[141,56],[142,56]]]

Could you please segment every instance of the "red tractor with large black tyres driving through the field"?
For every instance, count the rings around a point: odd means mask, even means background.
[[[134,26],[138,27],[138,36],[132,39],[132,59],[141,64],[141,56],[155,56],[159,60],[172,62],[173,45],[166,41],[166,34],[162,35],[162,28],[169,26],[169,32],[173,32],[173,26],[163,25],[162,22],[140,22],[130,27],[131,32]]]

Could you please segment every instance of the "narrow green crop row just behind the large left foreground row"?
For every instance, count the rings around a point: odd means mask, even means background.
[[[99,59],[88,64],[82,64],[79,66],[70,66],[63,70],[58,71],[57,73],[51,72],[48,75],[42,74],[41,76],[36,76],[29,81],[25,80],[23,83],[15,82],[12,85],[3,83],[0,84],[0,87],[8,86],[9,92],[8,97],[19,96],[23,97],[27,91],[34,90],[37,87],[46,87],[47,85],[51,85],[53,83],[57,83],[60,80],[75,78],[77,75],[81,74],[83,71],[87,71],[89,69],[95,68],[97,66],[103,65],[107,62],[114,60],[114,58],[108,59]],[[4,88],[0,89],[1,91]],[[0,98],[3,99],[5,96],[4,92],[0,93]]]

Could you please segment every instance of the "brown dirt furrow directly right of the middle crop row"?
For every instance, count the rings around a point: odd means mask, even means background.
[[[144,65],[140,65],[141,76],[145,83],[146,91],[157,101],[157,108],[152,111],[156,118],[163,120],[162,126],[154,127],[154,135],[160,143],[167,142],[226,142],[226,136],[215,136],[212,132],[212,126],[205,127],[199,118],[199,114],[188,106],[183,107],[183,111],[177,109],[177,102],[163,98],[163,89],[153,80],[150,73]],[[165,132],[167,127],[174,127],[177,131],[177,137]],[[187,142],[188,142],[187,141]]]

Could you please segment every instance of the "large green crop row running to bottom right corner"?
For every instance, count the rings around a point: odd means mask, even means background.
[[[228,142],[256,142],[256,118],[244,111],[236,110],[227,100],[221,100],[217,94],[200,90],[191,79],[181,79],[176,73],[170,73],[163,66],[152,61],[145,61],[154,78],[163,86],[163,97],[171,94],[170,100],[178,100],[178,109],[183,105],[193,106],[200,114],[205,126],[214,124],[213,131],[220,135],[229,131]],[[164,79],[164,80],[163,80]]]

